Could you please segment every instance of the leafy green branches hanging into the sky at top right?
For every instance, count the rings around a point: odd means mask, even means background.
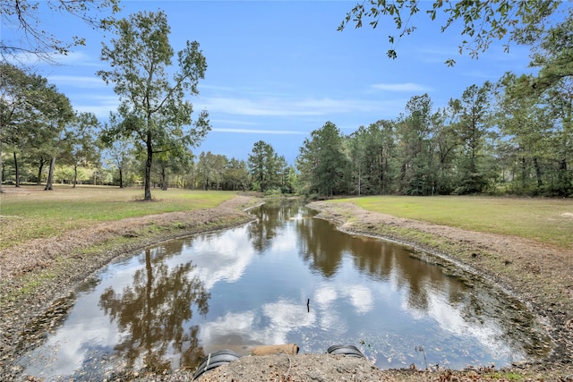
[[[560,1],[554,0],[493,0],[493,1],[454,1],[433,0],[423,3],[420,0],[367,0],[356,4],[346,13],[338,30],[344,30],[346,25],[354,23],[356,28],[368,22],[372,28],[378,27],[385,21],[394,23],[398,34],[388,37],[390,48],[387,55],[390,58],[398,56],[395,47],[400,38],[413,33],[418,27],[415,16],[421,11],[432,21],[441,20],[440,30],[444,32],[456,22],[462,23],[462,41],[459,53],[467,51],[471,57],[477,58],[480,52],[490,47],[492,41],[507,38],[504,45],[509,50],[511,42],[523,42],[524,34],[537,36],[546,24],[552,22],[550,16],[559,6]],[[443,18],[445,16],[445,19]],[[509,34],[509,36],[508,36]],[[449,58],[446,64],[453,65],[455,60]]]

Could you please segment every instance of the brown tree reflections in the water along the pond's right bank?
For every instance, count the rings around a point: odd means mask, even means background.
[[[295,229],[301,259],[325,279],[336,278],[343,258],[349,255],[362,275],[392,284],[402,293],[403,306],[414,317],[435,319],[450,331],[456,323],[460,335],[469,329],[496,333],[500,344],[523,348],[527,354],[546,352],[548,337],[535,316],[517,298],[483,284],[479,276],[463,269],[451,276],[446,268],[412,256],[406,246],[341,233],[325,221],[304,219]],[[385,312],[386,317],[391,314]]]

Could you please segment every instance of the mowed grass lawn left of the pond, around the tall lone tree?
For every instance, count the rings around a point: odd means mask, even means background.
[[[55,236],[126,217],[213,208],[236,192],[151,190],[153,201],[143,202],[142,189],[110,186],[3,186],[0,194],[0,250],[30,239]]]

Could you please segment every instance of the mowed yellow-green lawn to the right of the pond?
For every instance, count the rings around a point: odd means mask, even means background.
[[[372,196],[337,199],[374,212],[501,233],[573,250],[573,199]]]

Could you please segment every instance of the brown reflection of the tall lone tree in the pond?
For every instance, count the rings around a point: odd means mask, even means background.
[[[172,251],[168,251],[173,253]],[[197,334],[199,327],[187,327],[193,306],[202,316],[209,311],[210,293],[201,279],[192,275],[191,262],[168,267],[164,250],[145,250],[145,267],[133,276],[133,283],[121,293],[107,288],[99,306],[123,333],[118,352],[133,368],[142,362],[148,369],[171,369],[171,355],[180,355],[180,366],[194,366],[204,357]]]

